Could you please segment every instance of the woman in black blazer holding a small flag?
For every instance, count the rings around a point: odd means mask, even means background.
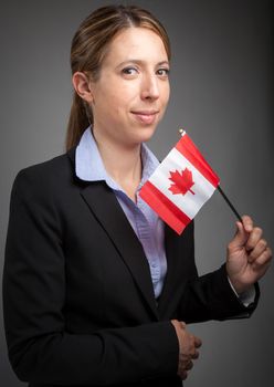
[[[30,386],[180,386],[201,341],[186,323],[250,316],[271,250],[250,217],[199,278],[193,223],[165,226],[138,191],[169,98],[170,46],[148,11],[105,7],[72,42],[67,153],[12,189],[3,275],[14,372]]]

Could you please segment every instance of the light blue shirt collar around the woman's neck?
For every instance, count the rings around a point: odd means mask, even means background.
[[[143,176],[140,187],[158,167],[159,161],[152,151],[141,144]],[[85,181],[105,180],[113,189],[119,189],[118,185],[107,174],[102,160],[97,144],[94,139],[92,127],[88,126],[83,133],[76,147],[75,154],[76,176]]]

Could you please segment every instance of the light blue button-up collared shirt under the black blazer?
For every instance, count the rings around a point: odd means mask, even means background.
[[[161,293],[167,273],[165,227],[157,213],[138,196],[141,186],[159,165],[155,155],[145,144],[141,145],[141,161],[143,177],[137,188],[137,201],[135,203],[123,188],[107,174],[91,126],[84,132],[76,147],[75,168],[77,177],[85,181],[105,180],[107,186],[113,189],[144,248],[150,268],[155,297],[157,299]]]

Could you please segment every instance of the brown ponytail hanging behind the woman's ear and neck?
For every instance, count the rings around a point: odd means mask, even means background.
[[[92,112],[87,112],[84,101],[76,92],[73,95],[73,103],[66,130],[65,148],[70,150],[77,145],[82,134],[88,125],[93,124]]]

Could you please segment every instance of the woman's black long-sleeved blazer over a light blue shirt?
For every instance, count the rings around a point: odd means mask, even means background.
[[[193,223],[166,227],[155,300],[147,259],[105,182],[75,176],[75,148],[15,178],[3,273],[9,357],[30,386],[180,386],[171,318],[249,316],[224,265],[198,278]],[[257,292],[259,294],[259,292]]]

